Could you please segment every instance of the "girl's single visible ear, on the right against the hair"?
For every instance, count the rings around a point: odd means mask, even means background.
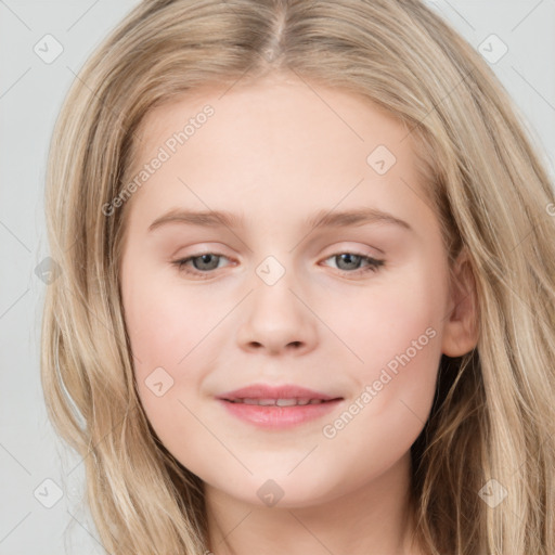
[[[478,343],[478,295],[466,247],[461,250],[450,278],[448,322],[443,328],[441,351],[462,357]]]

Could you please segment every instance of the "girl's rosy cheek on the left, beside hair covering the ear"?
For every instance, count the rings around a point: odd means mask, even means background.
[[[191,400],[198,398],[198,372],[206,366],[201,348],[206,324],[198,325],[206,315],[153,282],[138,282],[134,292],[128,293],[131,308],[126,325],[140,402],[159,440],[189,465],[189,453],[201,447],[195,444],[195,434],[191,438],[198,425],[192,416],[198,411]],[[192,441],[183,441],[185,437]],[[188,449],[181,452],[184,446]]]

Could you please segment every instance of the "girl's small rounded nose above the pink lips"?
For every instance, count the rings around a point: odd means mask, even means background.
[[[242,323],[237,330],[240,347],[278,356],[309,352],[317,344],[317,318],[302,294],[292,287],[288,272],[268,285],[258,281],[245,299]],[[295,289],[295,291],[294,291]]]

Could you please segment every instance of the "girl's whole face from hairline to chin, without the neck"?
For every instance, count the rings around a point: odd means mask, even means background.
[[[125,207],[141,403],[184,466],[258,505],[322,503],[406,461],[454,349],[408,130],[312,89],[282,75],[155,108]]]

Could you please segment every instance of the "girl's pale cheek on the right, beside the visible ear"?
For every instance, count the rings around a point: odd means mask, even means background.
[[[348,414],[335,415],[337,425],[328,421],[326,437],[337,433],[356,442],[370,436],[369,446],[397,438],[408,449],[420,434],[436,389],[447,291],[428,267],[415,262],[395,283],[359,291],[350,304],[356,313],[337,311],[338,333],[362,361],[347,352],[357,392]]]

